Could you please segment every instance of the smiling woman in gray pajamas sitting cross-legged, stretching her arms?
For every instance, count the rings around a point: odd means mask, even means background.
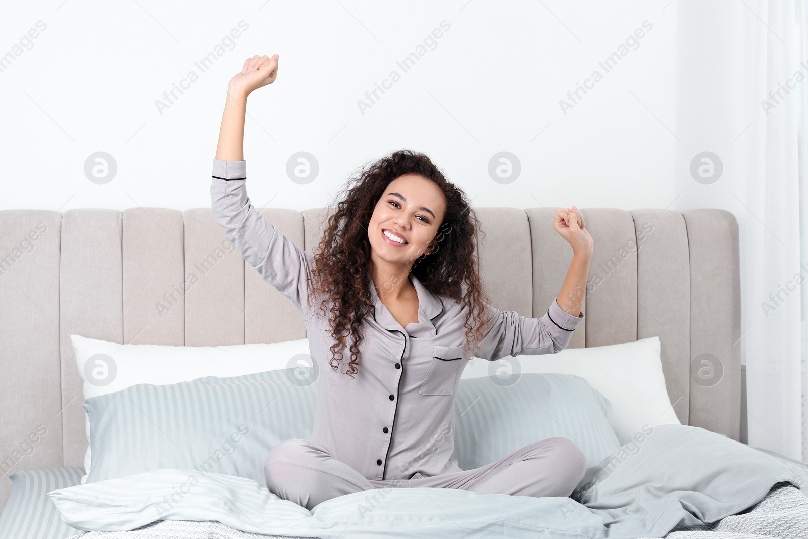
[[[318,255],[302,251],[246,194],[246,99],[274,82],[277,69],[277,54],[256,55],[230,80],[211,185],[214,217],[244,259],[297,305],[318,366],[312,440],[271,449],[269,490],[308,509],[388,486],[570,495],[586,469],[573,441],[537,441],[464,471],[452,458],[452,431],[454,394],[471,355],[498,360],[569,343],[583,320],[593,246],[583,217],[574,206],[555,215],[573,258],[541,318],[486,303],[473,210],[423,154],[394,152],[363,171],[335,205]]]

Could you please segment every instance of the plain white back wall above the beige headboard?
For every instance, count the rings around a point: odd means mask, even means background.
[[[358,167],[404,147],[478,206],[666,208],[680,192],[676,2],[262,1],[7,6],[0,54],[20,54],[0,72],[0,208],[208,206],[226,83],[246,57],[273,53],[278,80],[250,97],[246,125],[259,207],[326,205]],[[32,47],[15,51],[40,20]],[[195,61],[240,21],[233,49],[201,72]],[[443,21],[404,73],[397,61]],[[638,48],[605,72],[598,62],[644,21]],[[199,79],[158,112],[191,69]],[[559,100],[595,69],[603,80],[565,115]],[[363,114],[357,101],[391,70],[401,79]],[[305,185],[285,172],[301,150],[320,166]],[[522,167],[504,185],[488,173],[503,150]],[[117,163],[102,185],[84,172],[97,151]]]

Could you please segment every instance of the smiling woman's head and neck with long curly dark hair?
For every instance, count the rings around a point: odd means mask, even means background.
[[[470,349],[477,347],[487,298],[475,256],[478,222],[465,192],[427,155],[405,149],[361,171],[337,198],[314,259],[312,286],[317,293],[334,291],[323,301],[339,305],[332,331],[339,347],[347,346],[344,333],[350,328],[354,342],[347,373],[358,372],[361,324],[372,313],[372,293],[402,328],[420,321],[410,275],[431,293],[467,306],[464,340]],[[341,355],[335,351],[333,368]]]

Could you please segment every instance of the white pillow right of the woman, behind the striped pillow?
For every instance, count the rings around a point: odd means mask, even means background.
[[[608,421],[621,445],[642,432],[644,425],[681,424],[667,396],[659,337],[565,348],[555,354],[506,356],[498,361],[474,358],[466,364],[461,378],[486,377],[498,370],[503,375],[561,373],[584,378],[611,403]]]

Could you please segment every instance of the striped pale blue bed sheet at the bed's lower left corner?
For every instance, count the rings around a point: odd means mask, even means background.
[[[17,470],[8,478],[11,488],[0,516],[0,537],[6,539],[63,539],[84,533],[62,522],[48,492],[82,481],[83,467]]]

